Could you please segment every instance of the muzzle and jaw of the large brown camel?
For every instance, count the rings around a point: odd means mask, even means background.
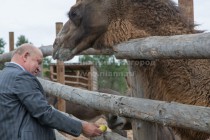
[[[106,31],[106,28],[101,26],[98,28],[83,26],[82,24],[76,26],[71,19],[64,24],[53,44],[53,59],[62,61],[72,59],[75,55],[93,47],[100,34]]]

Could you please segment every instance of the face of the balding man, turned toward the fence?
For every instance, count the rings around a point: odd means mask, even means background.
[[[34,76],[37,76],[41,72],[42,59],[43,56],[40,52],[28,54],[25,69]]]

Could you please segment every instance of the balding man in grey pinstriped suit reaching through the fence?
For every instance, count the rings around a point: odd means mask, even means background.
[[[0,72],[0,139],[55,140],[53,129],[73,136],[101,135],[97,125],[67,117],[47,103],[35,77],[42,58],[38,48],[23,44]]]

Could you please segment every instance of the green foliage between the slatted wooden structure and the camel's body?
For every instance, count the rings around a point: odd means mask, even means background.
[[[79,57],[79,62],[92,62],[98,71],[98,86],[110,88],[120,93],[127,91],[125,76],[128,74],[127,62],[116,60],[114,56],[84,55]]]

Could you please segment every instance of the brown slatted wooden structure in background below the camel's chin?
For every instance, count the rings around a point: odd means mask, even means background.
[[[80,87],[87,90],[98,90],[98,74],[93,63],[65,63],[65,85]],[[57,82],[57,66],[50,64],[51,80]]]

